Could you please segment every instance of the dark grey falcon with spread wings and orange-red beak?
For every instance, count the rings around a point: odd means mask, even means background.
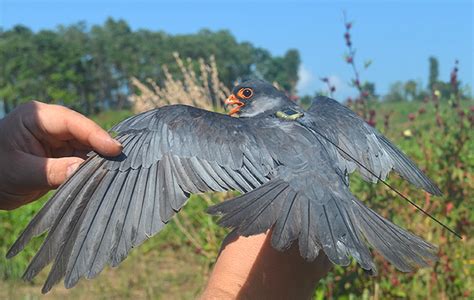
[[[433,195],[440,189],[377,129],[348,107],[316,97],[308,109],[263,80],[236,85],[222,114],[169,105],[111,129],[116,157],[90,152],[33,217],[7,253],[11,258],[47,232],[23,278],[47,265],[47,293],[71,288],[118,266],[157,234],[191,194],[235,190],[208,208],[241,236],[270,232],[271,245],[297,244],[313,261],[351,259],[376,274],[372,249],[403,272],[437,260],[437,247],[368,208],[350,191],[355,171],[370,183],[390,171]],[[269,231],[270,230],[270,231]]]

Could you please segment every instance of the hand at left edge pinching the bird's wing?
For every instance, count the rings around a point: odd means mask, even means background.
[[[32,101],[0,120],[0,209],[38,199],[63,183],[94,150],[122,151],[96,123],[58,105]]]

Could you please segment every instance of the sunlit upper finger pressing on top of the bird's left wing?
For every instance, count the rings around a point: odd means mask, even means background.
[[[117,156],[121,144],[83,115],[59,105],[37,104],[36,121],[45,135],[66,141],[75,139],[104,156]]]

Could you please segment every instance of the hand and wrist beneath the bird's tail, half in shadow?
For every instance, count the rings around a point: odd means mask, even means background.
[[[271,246],[268,232],[250,237],[232,232],[201,299],[309,299],[331,267],[322,251],[307,262],[297,243],[280,252]]]

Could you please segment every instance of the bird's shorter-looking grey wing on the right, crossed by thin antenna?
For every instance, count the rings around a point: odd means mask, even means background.
[[[341,169],[349,173],[357,169],[365,180],[371,182],[377,182],[379,178],[384,180],[393,169],[417,187],[433,195],[441,195],[439,188],[406,155],[377,129],[339,102],[323,96],[316,97],[301,120],[372,172],[361,167],[344,152],[336,150]],[[328,149],[334,147],[329,146]]]

